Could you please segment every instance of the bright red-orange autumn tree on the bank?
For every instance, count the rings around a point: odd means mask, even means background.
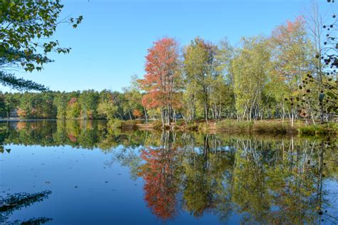
[[[143,80],[139,80],[145,91],[142,105],[145,108],[159,108],[163,127],[170,125],[173,108],[177,103],[175,96],[180,90],[180,54],[178,43],[173,38],[155,41],[148,49]]]

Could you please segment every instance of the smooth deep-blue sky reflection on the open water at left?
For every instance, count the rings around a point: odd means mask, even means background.
[[[0,155],[4,194],[46,189],[52,192],[43,202],[15,211],[11,220],[45,216],[53,219],[51,224],[160,222],[143,201],[143,180],[130,179],[129,169],[118,163],[107,165],[111,153],[69,146],[6,145],[5,148],[10,148],[11,152]],[[196,222],[185,211],[180,211],[175,219],[178,224],[189,221]],[[217,221],[216,216],[207,214],[197,222]]]

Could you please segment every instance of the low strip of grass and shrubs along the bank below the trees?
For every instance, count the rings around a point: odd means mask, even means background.
[[[111,120],[110,127],[122,130],[162,130],[160,121],[155,120],[148,124],[141,120]],[[257,120],[237,121],[197,121],[185,123],[183,121],[173,122],[166,130],[199,131],[210,133],[231,133],[231,134],[258,134],[258,135],[301,135],[301,136],[324,136],[338,135],[338,124],[331,122],[324,125],[306,125],[304,121],[297,121],[292,126],[289,121],[282,120]]]

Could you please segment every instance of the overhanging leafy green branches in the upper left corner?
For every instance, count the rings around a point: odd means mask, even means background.
[[[17,90],[46,90],[43,85],[16,78],[8,68],[41,70],[52,60],[48,53],[69,53],[57,40],[49,41],[59,23],[73,28],[83,17],[58,21],[63,5],[58,0],[0,1],[0,83]]]

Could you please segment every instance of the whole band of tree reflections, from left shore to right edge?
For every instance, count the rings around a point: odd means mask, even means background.
[[[111,154],[108,164],[143,178],[144,200],[163,221],[187,211],[223,222],[237,216],[245,224],[338,223],[336,139],[121,132],[102,121],[2,125],[4,145],[71,145]]]

